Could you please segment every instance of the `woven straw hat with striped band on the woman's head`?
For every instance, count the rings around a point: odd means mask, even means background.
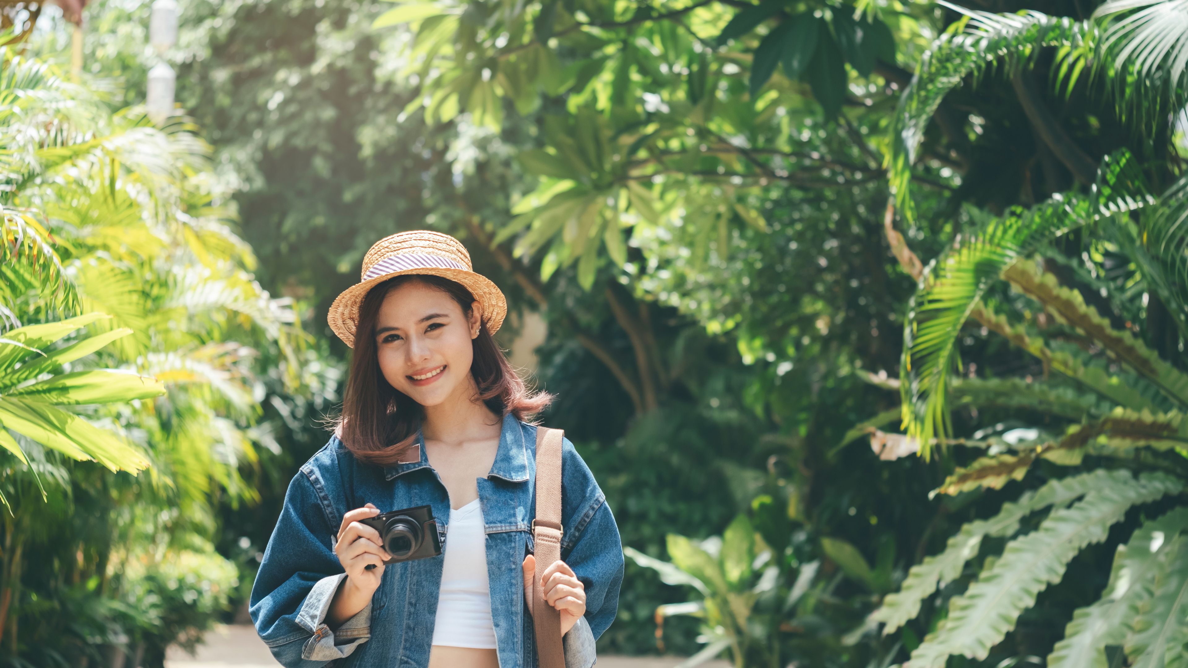
[[[470,253],[461,241],[430,229],[412,229],[385,237],[364,256],[360,282],[342,291],[327,320],[330,329],[352,348],[355,347],[355,326],[359,323],[359,304],[377,283],[405,273],[429,273],[449,278],[465,285],[482,304],[482,320],[487,332],[494,334],[507,315],[507,300],[503,291],[470,265]]]

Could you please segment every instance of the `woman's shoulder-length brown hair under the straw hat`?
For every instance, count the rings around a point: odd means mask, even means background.
[[[406,282],[421,282],[454,298],[462,313],[470,317],[474,296],[470,291],[441,276],[411,273],[397,276],[367,291],[359,305],[355,327],[355,347],[350,355],[350,371],[342,396],[342,415],[336,426],[342,443],[360,461],[391,466],[400,460],[417,440],[424,420],[424,408],[393,387],[379,368],[375,346],[375,320],[388,292]],[[500,417],[508,412],[517,420],[527,420],[550,403],[549,392],[532,392],[504,357],[499,345],[482,322],[479,335],[472,339],[474,361],[470,376],[479,387],[478,398]]]

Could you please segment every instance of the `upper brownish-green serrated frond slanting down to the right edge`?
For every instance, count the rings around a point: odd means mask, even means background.
[[[1111,357],[1143,374],[1181,407],[1188,408],[1188,374],[1163,361],[1130,332],[1114,329],[1094,307],[1085,303],[1079,291],[1061,285],[1041,263],[1015,263],[1003,272],[1003,278],[1043,304],[1044,310],[1056,320],[1081,330],[1105,347]]]

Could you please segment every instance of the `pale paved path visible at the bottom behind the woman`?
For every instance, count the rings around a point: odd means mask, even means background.
[[[599,668],[672,668],[681,661],[680,656],[600,656],[598,666]],[[260,641],[260,636],[255,635],[255,629],[247,625],[216,626],[207,634],[195,656],[173,648],[165,657],[165,668],[279,668],[279,666]],[[713,661],[702,666],[728,668],[725,661]]]

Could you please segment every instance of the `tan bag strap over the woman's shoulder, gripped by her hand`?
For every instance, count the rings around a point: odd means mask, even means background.
[[[564,431],[536,428],[536,519],[532,543],[536,578],[532,587],[532,623],[539,668],[565,668],[561,644],[561,611],[544,600],[541,578],[544,569],[561,559],[561,446]]]

